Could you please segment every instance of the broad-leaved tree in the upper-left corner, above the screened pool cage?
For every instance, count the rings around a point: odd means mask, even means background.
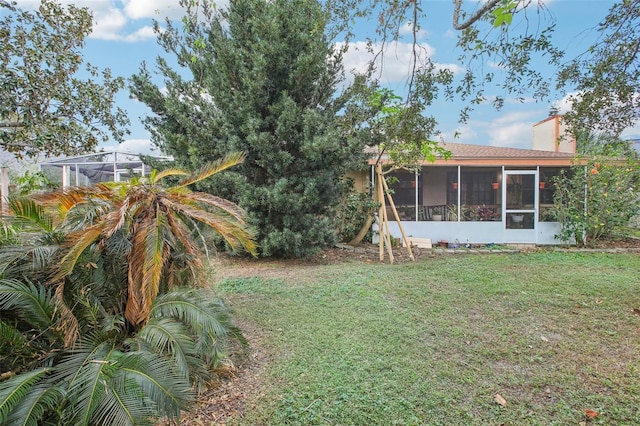
[[[87,8],[42,0],[29,12],[0,0],[0,148],[18,158],[73,155],[122,139],[128,119],[114,96],[124,80],[83,67],[92,27]]]

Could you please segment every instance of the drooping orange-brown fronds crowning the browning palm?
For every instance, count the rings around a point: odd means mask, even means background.
[[[219,234],[232,250],[255,254],[253,234],[237,205],[188,188],[241,161],[241,154],[233,154],[195,174],[179,169],[153,171],[148,178],[65,189],[38,197],[45,205],[57,207],[60,219],[74,219],[66,224],[69,246],[54,280],[71,274],[86,250],[103,250],[110,242],[125,238],[125,317],[138,326],[148,320],[161,286],[168,290],[184,284],[173,279],[177,271],[187,271],[188,280],[197,281],[202,269],[196,238],[198,223]],[[176,177],[182,180],[172,186],[161,185],[163,180]]]

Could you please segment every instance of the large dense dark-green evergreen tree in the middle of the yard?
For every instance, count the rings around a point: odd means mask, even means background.
[[[182,4],[181,25],[156,23],[180,67],[158,58],[166,91],[144,64],[132,78],[154,113],[145,119],[154,144],[188,168],[246,154],[210,189],[249,212],[263,255],[305,257],[332,244],[341,176],[362,165],[364,145],[349,113],[355,91],[337,94],[342,52],[325,33],[329,16],[315,0]]]

